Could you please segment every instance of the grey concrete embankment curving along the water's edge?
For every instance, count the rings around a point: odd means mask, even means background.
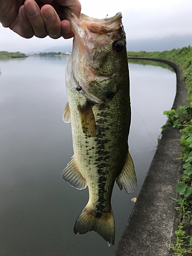
[[[162,59],[129,59],[153,60],[172,67],[177,75],[173,109],[186,104],[187,91],[182,81],[183,74],[176,63]],[[177,198],[176,186],[182,173],[181,160],[175,160],[181,155],[180,137],[178,129],[165,126],[137,202],[117,246],[116,256],[170,256],[169,247],[175,240],[174,231],[179,224],[175,210],[177,202],[171,198]]]

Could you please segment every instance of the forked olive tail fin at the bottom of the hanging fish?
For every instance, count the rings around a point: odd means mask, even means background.
[[[100,234],[100,236],[104,238],[109,245],[114,245],[115,222],[112,208],[111,212],[103,214],[100,218],[95,216],[95,212],[86,206],[76,220],[74,233],[84,234],[88,231],[94,230]]]

